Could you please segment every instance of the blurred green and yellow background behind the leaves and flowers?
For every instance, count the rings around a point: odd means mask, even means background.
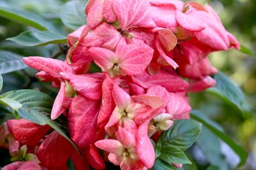
[[[227,31],[234,34],[237,40],[252,49],[256,50],[256,1],[255,0],[220,0],[197,2],[209,3],[220,15],[223,25]],[[67,1],[64,0],[0,0],[0,6],[8,4],[17,8],[33,11],[41,15],[46,20],[58,27],[58,31],[67,35],[72,29],[65,27],[60,20],[61,6]],[[0,50],[18,53],[22,56],[44,56],[50,57],[66,49],[65,45],[47,45],[26,47],[17,45],[12,41],[5,41],[6,38],[17,36],[20,32],[34,30],[32,27],[26,27],[17,22],[0,17]],[[1,57],[1,56],[0,56]],[[64,59],[65,55],[58,55],[59,59]],[[237,50],[228,52],[215,52],[209,56],[212,65],[220,71],[227,74],[246,94],[246,101],[252,106],[250,113],[241,113],[239,109],[230,103],[226,103],[217,96],[212,96],[209,92],[200,92],[199,94],[190,94],[191,105],[193,108],[202,111],[205,115],[218,122],[227,132],[228,136],[241,143],[248,152],[246,165],[238,169],[256,169],[256,57],[249,57]],[[33,78],[35,71],[24,69],[13,73],[3,74],[4,89],[2,92],[18,89],[40,89],[42,92],[56,95],[56,89],[52,89],[49,83],[42,83]],[[3,120],[1,120],[3,121]],[[1,122],[0,122],[1,123]],[[207,134],[207,130],[203,131]],[[214,155],[204,153],[202,146],[194,145],[189,150],[191,159],[195,161],[196,166],[189,166],[187,169],[237,169],[236,164],[239,158],[223,142],[216,144],[216,138],[209,138],[212,144],[212,150],[220,144],[221,157],[216,159]],[[200,143],[204,143],[201,138]],[[211,146],[210,146],[211,148]],[[1,154],[1,153],[0,153]],[[212,154],[215,154],[212,151]],[[217,153],[216,153],[217,154]],[[220,157],[219,157],[220,158]],[[209,166],[212,164],[214,166]],[[221,164],[221,165],[220,165]],[[218,166],[219,165],[219,166]],[[185,166],[186,169],[186,166]]]

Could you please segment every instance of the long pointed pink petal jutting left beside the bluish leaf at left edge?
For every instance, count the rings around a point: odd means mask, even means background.
[[[24,62],[33,69],[44,71],[54,78],[60,78],[61,72],[73,73],[74,71],[67,63],[58,59],[49,59],[44,57],[26,57]]]

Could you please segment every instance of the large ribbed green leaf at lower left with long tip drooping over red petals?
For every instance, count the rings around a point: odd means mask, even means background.
[[[70,143],[78,149],[76,145],[72,142],[71,139],[61,130],[61,128],[51,120],[51,118],[45,116],[51,114],[52,104],[54,100],[52,97],[44,94],[42,92],[38,92],[35,90],[17,90],[4,93],[2,95],[4,98],[13,99],[20,104],[22,104],[22,108],[19,109],[18,114],[22,118],[26,118],[31,122],[39,125],[49,125],[57,131],[61,136],[66,138]]]

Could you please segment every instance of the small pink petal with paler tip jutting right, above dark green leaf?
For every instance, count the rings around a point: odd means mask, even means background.
[[[189,81],[189,92],[200,92],[206,90],[210,87],[214,87],[216,81],[211,78],[211,76],[205,76],[201,80],[191,80]]]

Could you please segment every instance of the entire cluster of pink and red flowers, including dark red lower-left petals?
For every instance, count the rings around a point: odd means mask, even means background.
[[[64,168],[69,157],[77,169],[89,164],[104,169],[99,148],[121,169],[150,168],[155,160],[150,139],[157,141],[174,120],[189,118],[188,92],[215,85],[211,74],[217,70],[207,55],[239,48],[239,43],[211,6],[195,2],[91,0],[85,13],[88,25],[68,35],[65,61],[24,59],[40,71],[40,80],[60,89],[51,118],[67,117],[70,138],[83,160],[73,159],[79,155],[57,132],[44,138],[49,127],[28,127],[32,123],[26,120],[7,122],[12,138],[6,137],[6,148],[11,150],[15,139],[34,148],[40,144],[35,154],[49,169]],[[91,73],[93,63],[101,73]],[[29,138],[20,138],[22,129],[17,127],[30,129],[22,134]]]

